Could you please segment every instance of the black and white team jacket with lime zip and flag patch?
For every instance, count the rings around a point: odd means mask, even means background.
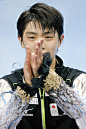
[[[14,84],[25,83],[23,69],[0,80],[0,129],[86,128],[86,73],[63,66],[58,56],[56,60],[60,86],[38,88],[29,102],[14,90]]]

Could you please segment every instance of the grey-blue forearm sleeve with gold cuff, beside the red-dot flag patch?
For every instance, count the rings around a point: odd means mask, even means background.
[[[79,89],[80,93],[76,93],[75,88],[69,87],[52,69],[49,70],[48,76],[43,81],[43,89],[48,92],[50,98],[57,103],[65,114],[74,119],[82,117],[82,115],[86,112],[86,85],[83,87],[83,83],[86,84],[86,81],[82,83],[82,80],[79,80],[81,85],[81,89]],[[77,89],[78,82],[75,82],[76,80],[73,85]]]

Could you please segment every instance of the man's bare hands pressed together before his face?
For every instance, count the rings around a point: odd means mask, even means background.
[[[34,53],[32,54],[30,48],[26,46],[26,58],[23,70],[25,82],[29,85],[32,85],[31,79],[33,77],[38,77],[37,71],[43,61],[42,43],[43,40],[34,43]]]

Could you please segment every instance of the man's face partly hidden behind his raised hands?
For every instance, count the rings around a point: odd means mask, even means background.
[[[29,46],[31,53],[34,53],[34,43],[43,39],[42,53],[50,52],[51,58],[54,59],[58,47],[60,47],[60,40],[57,31],[46,28],[44,31],[38,22],[29,22],[23,32],[23,41],[21,45],[23,48]]]

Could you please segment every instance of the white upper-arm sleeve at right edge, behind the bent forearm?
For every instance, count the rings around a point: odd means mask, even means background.
[[[80,119],[76,119],[76,123],[80,129],[86,128],[86,74],[80,74],[73,82],[73,90],[77,94],[79,94],[80,98],[82,99],[85,110],[84,115]]]

